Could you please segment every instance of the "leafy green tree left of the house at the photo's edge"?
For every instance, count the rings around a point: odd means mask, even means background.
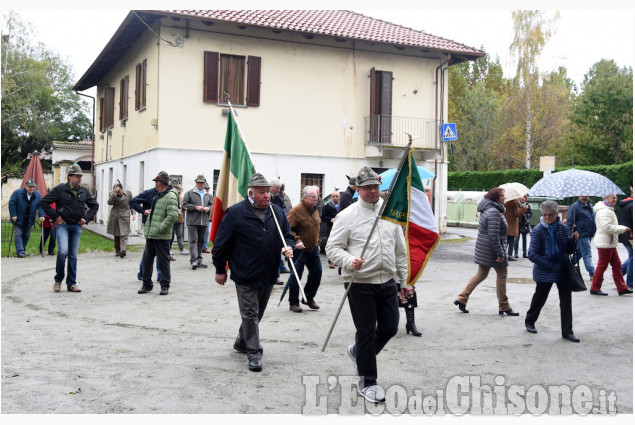
[[[26,169],[33,151],[53,141],[89,139],[88,105],[72,91],[70,67],[42,43],[14,11],[3,17],[2,170]]]

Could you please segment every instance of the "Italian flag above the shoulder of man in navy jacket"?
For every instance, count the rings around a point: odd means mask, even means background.
[[[220,222],[225,211],[232,205],[244,200],[249,189],[249,179],[255,173],[247,147],[240,137],[233,114],[227,114],[227,134],[225,135],[225,151],[221,161],[220,175],[216,186],[214,210],[209,240],[214,243]]]

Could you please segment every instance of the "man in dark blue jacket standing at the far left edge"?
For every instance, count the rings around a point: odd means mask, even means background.
[[[35,190],[35,181],[28,179],[23,188],[17,189],[9,198],[9,215],[13,222],[15,250],[18,258],[26,257],[26,245],[31,237],[35,223],[35,213],[40,213],[40,222],[44,221],[44,211],[40,208],[42,195]]]

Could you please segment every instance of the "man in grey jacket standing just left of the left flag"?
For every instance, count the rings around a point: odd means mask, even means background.
[[[205,268],[203,264],[203,242],[205,241],[205,230],[209,223],[209,212],[214,205],[212,195],[205,192],[205,176],[196,176],[196,187],[188,190],[183,196],[181,208],[187,211],[185,214],[185,224],[187,225],[187,237],[190,243],[190,264],[192,270]]]

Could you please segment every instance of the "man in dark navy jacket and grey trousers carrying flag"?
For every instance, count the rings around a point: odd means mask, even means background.
[[[295,240],[282,210],[269,207],[271,184],[260,173],[249,180],[249,197],[225,211],[214,241],[212,262],[215,280],[227,282],[225,266],[229,263],[231,280],[236,286],[242,324],[234,349],[247,354],[249,370],[262,370],[262,345],[259,323],[267,308],[273,285],[278,276],[280,252],[292,258]],[[275,213],[284,243],[274,221]]]

